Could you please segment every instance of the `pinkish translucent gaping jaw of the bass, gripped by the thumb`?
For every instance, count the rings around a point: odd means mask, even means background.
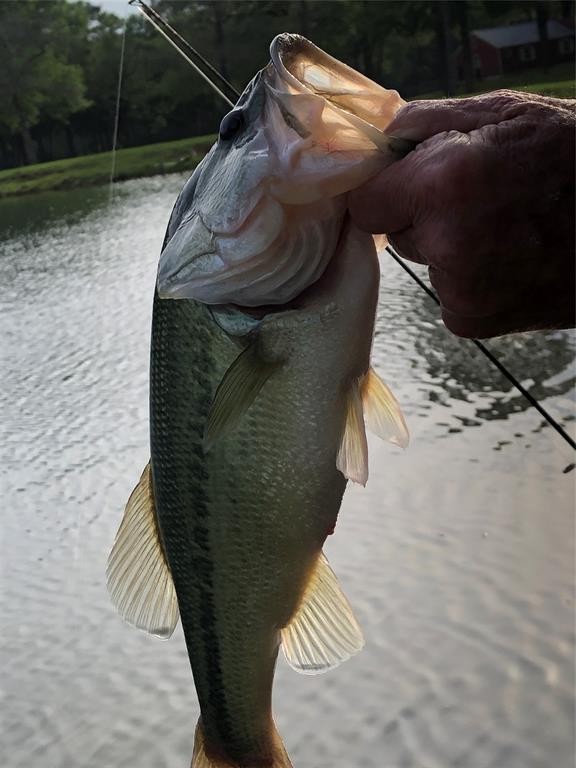
[[[282,169],[272,187],[279,199],[343,194],[397,159],[383,132],[406,103],[396,91],[382,88],[300,35],[278,35],[270,55],[273,66],[264,75],[268,118],[290,148],[292,166],[288,175]],[[307,140],[297,150],[273,105],[288,128],[294,126]]]

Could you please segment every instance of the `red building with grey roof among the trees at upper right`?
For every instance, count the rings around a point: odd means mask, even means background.
[[[501,75],[545,63],[574,61],[574,29],[559,21],[548,21],[548,40],[540,40],[535,21],[510,24],[507,27],[475,29],[470,33],[474,70],[477,78]],[[461,54],[458,57],[462,77]]]

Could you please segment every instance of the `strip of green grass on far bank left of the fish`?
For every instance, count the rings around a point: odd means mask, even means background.
[[[190,171],[204,157],[215,138],[196,136],[162,144],[120,149],[116,153],[114,178],[134,179],[160,173]],[[0,171],[0,197],[106,184],[110,179],[111,167],[112,153],[101,152],[97,155],[9,168]]]

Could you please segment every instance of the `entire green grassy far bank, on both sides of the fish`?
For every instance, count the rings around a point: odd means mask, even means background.
[[[529,78],[529,81],[527,80]],[[548,72],[531,70],[513,75],[484,80],[474,93],[512,88],[544,96],[574,98],[576,83],[571,65],[559,65]],[[459,93],[459,96],[472,94]],[[427,93],[420,98],[438,98],[442,94]],[[202,159],[215,136],[197,136],[191,139],[149,144],[144,147],[121,149],[116,154],[116,180],[155,176],[161,173],[190,171]],[[0,198],[45,192],[53,189],[106,184],[110,179],[112,153],[84,155],[50,163],[28,165],[0,171]]]

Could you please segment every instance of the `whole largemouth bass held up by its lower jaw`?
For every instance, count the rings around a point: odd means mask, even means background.
[[[291,765],[271,710],[279,648],[317,673],[362,647],[322,546],[347,479],[366,483],[365,422],[407,441],[370,368],[376,249],[343,199],[393,159],[382,135],[366,138],[384,127],[366,123],[370,88],[375,115],[390,119],[401,101],[302,38],[283,35],[271,52],[168,225],[151,461],[108,565],[130,623],[168,637],[182,619],[201,710],[193,768]]]

